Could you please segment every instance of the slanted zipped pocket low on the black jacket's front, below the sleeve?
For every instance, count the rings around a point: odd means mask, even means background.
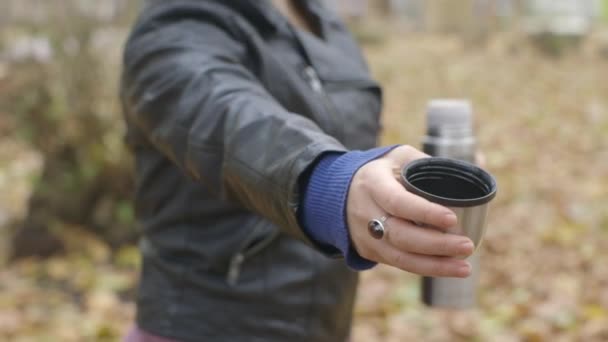
[[[270,246],[279,234],[279,229],[265,219],[260,218],[251,233],[240,244],[237,252],[230,257],[228,272],[226,273],[226,282],[229,286],[237,285],[245,262]]]

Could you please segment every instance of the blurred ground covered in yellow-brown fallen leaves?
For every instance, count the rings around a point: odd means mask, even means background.
[[[419,145],[428,100],[469,98],[500,189],[478,309],[425,308],[419,277],[378,267],[362,274],[354,341],[608,341],[608,60],[584,48],[548,59],[523,44],[422,35],[367,47],[385,87],[384,142]],[[40,160],[10,135],[0,158],[6,226]],[[137,250],[112,255],[65,229],[66,255],[0,271],[0,340],[114,341],[131,324]]]

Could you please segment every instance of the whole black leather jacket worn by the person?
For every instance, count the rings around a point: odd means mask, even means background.
[[[323,39],[268,1],[153,1],[122,100],[143,229],[137,324],[183,341],[343,341],[357,275],[297,220],[329,151],[376,144],[381,94],[335,14]]]

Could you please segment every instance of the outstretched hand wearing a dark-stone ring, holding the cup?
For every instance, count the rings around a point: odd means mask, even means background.
[[[403,165],[428,155],[400,146],[355,174],[349,188],[346,216],[351,240],[362,257],[424,276],[468,277],[473,242],[441,230],[457,223],[446,207],[408,192],[399,181]],[[389,214],[380,240],[368,232],[371,219]],[[436,227],[420,227],[413,222]]]

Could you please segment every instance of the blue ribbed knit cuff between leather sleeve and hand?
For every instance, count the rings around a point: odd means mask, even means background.
[[[300,223],[304,232],[328,255],[339,252],[346,264],[358,271],[370,269],[375,262],[355,250],[346,219],[346,199],[353,176],[363,165],[380,158],[394,146],[344,154],[322,156],[304,187],[300,206]]]

